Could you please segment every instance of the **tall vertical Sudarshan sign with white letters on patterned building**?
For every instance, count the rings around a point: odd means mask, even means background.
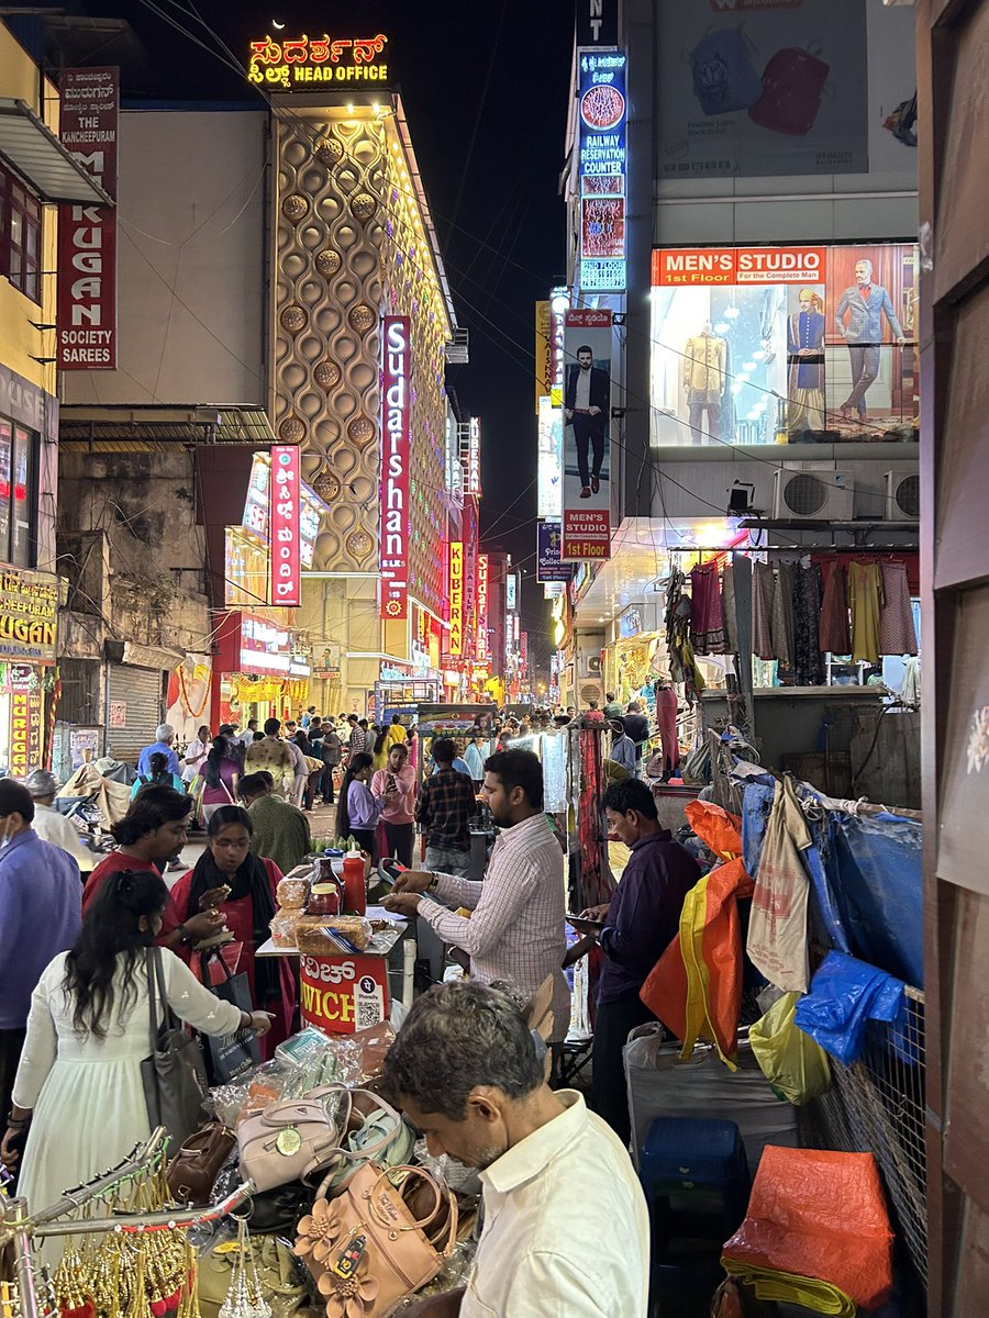
[[[381,617],[409,617],[411,319],[385,316],[381,398]]]

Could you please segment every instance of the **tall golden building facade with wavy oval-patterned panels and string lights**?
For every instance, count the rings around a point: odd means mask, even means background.
[[[303,480],[328,507],[303,577],[310,702],[364,710],[377,680],[400,676],[434,680],[442,697],[448,519],[460,498],[446,366],[465,361],[465,335],[401,99],[303,92],[273,98],[273,113],[269,415],[282,442],[302,445]],[[381,339],[393,315],[411,331],[405,618],[380,606]]]

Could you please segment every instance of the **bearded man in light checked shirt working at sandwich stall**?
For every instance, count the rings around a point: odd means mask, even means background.
[[[471,958],[481,983],[504,982],[522,999],[553,977],[553,1039],[570,1028],[563,853],[543,815],[542,764],[529,750],[505,750],[484,763],[481,797],[501,836],[483,882],[409,870],[385,898],[389,911],[418,915],[443,942]],[[448,907],[465,907],[471,919]]]

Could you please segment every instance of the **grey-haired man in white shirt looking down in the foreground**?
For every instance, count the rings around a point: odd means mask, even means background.
[[[504,994],[436,985],[413,1004],[382,1083],[434,1157],[476,1166],[484,1231],[459,1318],[646,1318],[649,1214],[628,1152]]]

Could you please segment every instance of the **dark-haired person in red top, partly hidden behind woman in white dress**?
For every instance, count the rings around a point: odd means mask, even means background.
[[[123,820],[111,828],[120,847],[105,855],[86,880],[83,915],[103,887],[103,880],[111,874],[150,869],[161,873],[170,857],[178,855],[186,845],[191,809],[193,797],[183,792],[177,792],[171,787],[145,787],[131,801]],[[196,912],[186,925],[181,920],[174,920],[169,925],[167,936],[158,938],[158,942],[174,952],[182,942],[191,944],[199,938],[208,938],[222,927],[223,920],[219,915],[202,911]]]

